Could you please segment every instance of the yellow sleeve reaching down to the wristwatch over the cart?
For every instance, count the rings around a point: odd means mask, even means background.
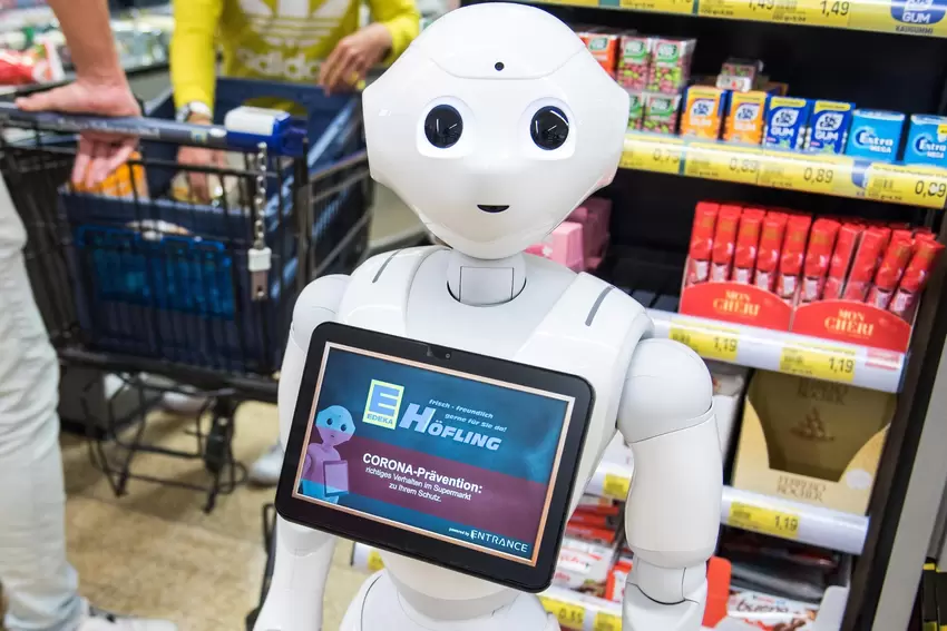
[[[178,0],[174,3],[170,80],[177,108],[192,102],[203,103],[208,109],[214,107],[217,66],[214,36],[223,10],[224,0]]]

